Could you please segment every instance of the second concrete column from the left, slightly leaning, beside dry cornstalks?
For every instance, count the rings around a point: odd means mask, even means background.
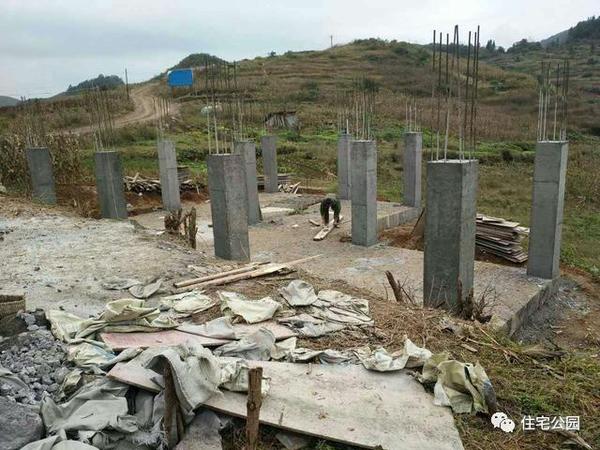
[[[121,158],[115,151],[96,152],[96,190],[104,219],[127,219]]]

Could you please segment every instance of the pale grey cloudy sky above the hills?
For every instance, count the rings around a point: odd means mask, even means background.
[[[194,52],[233,60],[356,38],[416,43],[482,26],[482,41],[539,40],[598,0],[0,0],[0,95],[45,97],[99,73],[144,81]]]

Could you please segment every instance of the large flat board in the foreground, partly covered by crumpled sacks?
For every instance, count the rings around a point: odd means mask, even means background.
[[[463,448],[449,408],[410,375],[379,373],[359,365],[303,365],[248,361],[263,367],[270,390],[260,422],[359,447],[387,450]],[[246,416],[245,393],[223,391],[205,405]]]

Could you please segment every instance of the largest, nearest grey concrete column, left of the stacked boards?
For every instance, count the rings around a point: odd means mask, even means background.
[[[473,289],[476,160],[427,163],[423,303],[452,310]]]

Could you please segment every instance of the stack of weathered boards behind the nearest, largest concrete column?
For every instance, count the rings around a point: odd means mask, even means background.
[[[529,228],[498,217],[477,214],[475,244],[480,250],[515,263],[527,261],[521,242],[529,235]]]

